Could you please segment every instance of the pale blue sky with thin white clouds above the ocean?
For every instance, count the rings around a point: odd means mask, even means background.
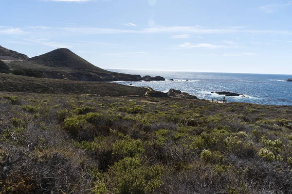
[[[102,68],[292,74],[289,0],[0,0],[0,45]]]

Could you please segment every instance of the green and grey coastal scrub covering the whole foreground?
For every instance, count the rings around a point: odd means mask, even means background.
[[[0,193],[291,194],[291,113],[291,106],[2,92]]]

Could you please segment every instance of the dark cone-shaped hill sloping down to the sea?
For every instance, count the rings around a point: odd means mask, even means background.
[[[56,49],[23,61],[6,62],[12,73],[29,77],[72,81],[140,81],[140,75],[104,70],[69,49]]]

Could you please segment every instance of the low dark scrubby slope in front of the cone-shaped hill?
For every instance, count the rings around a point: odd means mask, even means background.
[[[148,89],[108,82],[54,80],[0,73],[0,91],[121,97],[144,96]]]

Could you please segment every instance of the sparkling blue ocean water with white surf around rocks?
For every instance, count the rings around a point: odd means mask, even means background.
[[[201,99],[222,98],[211,92],[228,91],[245,97],[226,97],[228,102],[248,102],[268,105],[292,105],[292,82],[285,81],[292,75],[202,73],[108,69],[110,71],[139,74],[141,76],[162,76],[175,81],[116,81],[120,84],[151,87],[167,92],[170,88],[195,95]],[[189,80],[189,81],[186,81]]]

